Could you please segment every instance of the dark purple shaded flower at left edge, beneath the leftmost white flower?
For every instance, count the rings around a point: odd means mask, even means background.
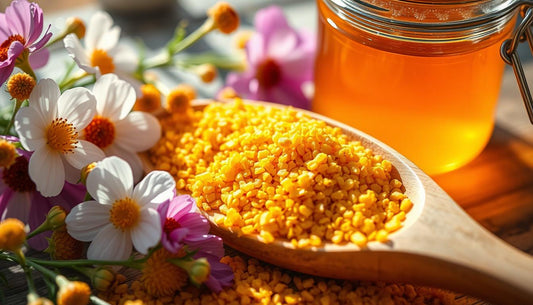
[[[7,140],[12,140],[12,137]],[[17,149],[19,156],[9,168],[0,170],[0,216],[1,219],[17,218],[29,224],[30,229],[37,228],[46,218],[54,205],[69,211],[74,205],[83,201],[85,187],[83,185],[65,183],[62,192],[54,197],[43,197],[35,188],[35,183],[28,174],[31,153]],[[36,235],[29,244],[36,250],[44,250],[51,232]]]

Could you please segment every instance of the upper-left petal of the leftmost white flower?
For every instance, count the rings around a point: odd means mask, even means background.
[[[48,124],[56,118],[60,95],[56,82],[49,78],[41,79],[30,94],[29,106],[37,110],[43,122]]]

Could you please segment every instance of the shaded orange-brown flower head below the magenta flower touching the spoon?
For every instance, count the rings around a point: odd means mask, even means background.
[[[171,253],[161,248],[150,256],[144,264],[141,282],[146,292],[155,297],[171,296],[187,284],[189,276],[180,267],[168,260],[182,257],[185,253]]]

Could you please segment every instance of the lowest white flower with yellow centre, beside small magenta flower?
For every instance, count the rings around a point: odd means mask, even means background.
[[[75,239],[92,241],[87,257],[124,260],[132,250],[146,254],[161,238],[157,206],[170,200],[176,184],[164,171],[150,172],[135,188],[128,163],[108,157],[87,177],[87,191],[95,199],[75,206],[66,218]]]

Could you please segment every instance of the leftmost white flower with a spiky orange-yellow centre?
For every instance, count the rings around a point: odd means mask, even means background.
[[[19,110],[15,129],[22,146],[33,151],[29,174],[43,196],[61,192],[65,179],[76,183],[80,169],[105,157],[96,145],[79,138],[96,113],[96,100],[85,88],[59,91],[51,79],[39,81],[29,106]]]

